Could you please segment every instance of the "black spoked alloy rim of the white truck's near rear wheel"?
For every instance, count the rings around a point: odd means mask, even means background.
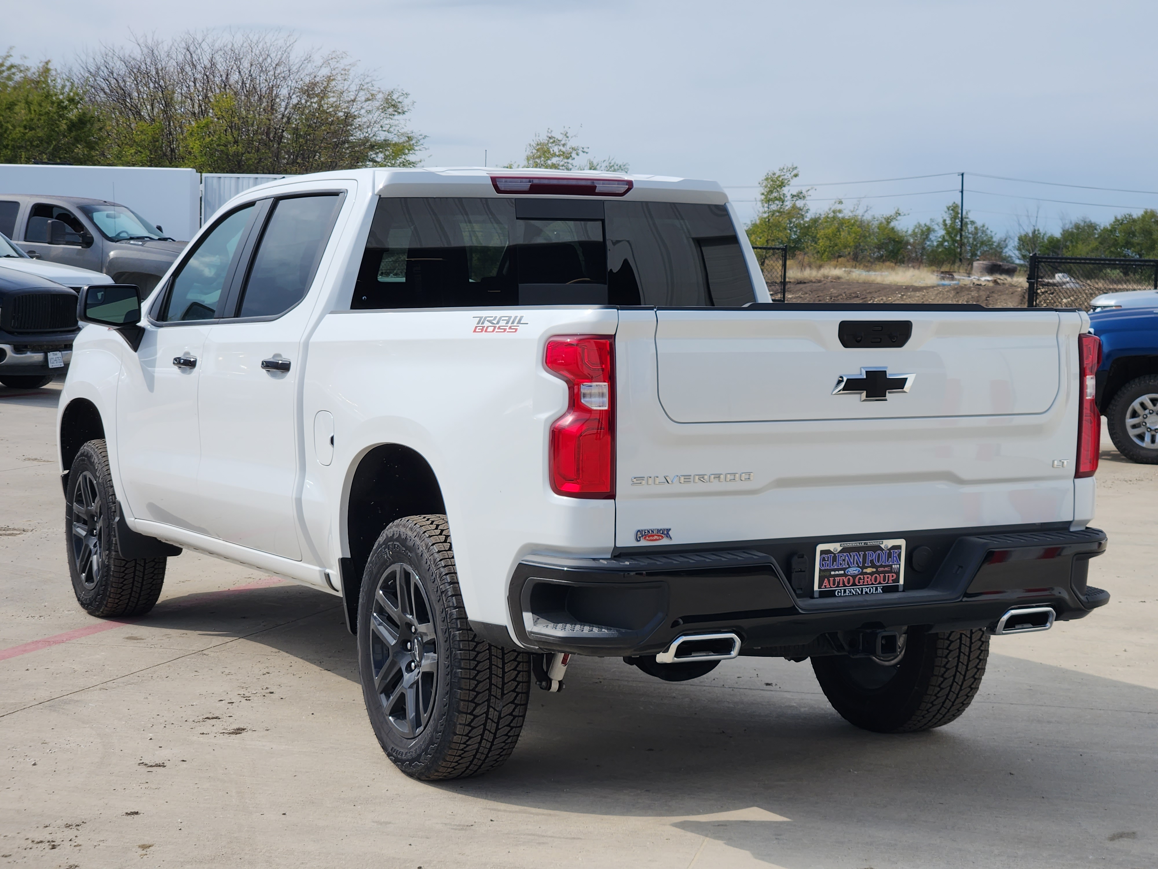
[[[369,616],[374,691],[386,720],[413,739],[430,724],[438,688],[438,634],[426,590],[409,564],[378,580]]]

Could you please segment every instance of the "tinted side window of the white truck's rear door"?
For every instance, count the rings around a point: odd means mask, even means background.
[[[274,316],[306,297],[334,228],[339,197],[280,199],[265,224],[237,316]]]

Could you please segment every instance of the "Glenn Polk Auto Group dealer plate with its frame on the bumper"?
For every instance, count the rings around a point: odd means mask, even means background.
[[[860,598],[904,591],[904,548],[903,538],[816,543],[812,596]]]

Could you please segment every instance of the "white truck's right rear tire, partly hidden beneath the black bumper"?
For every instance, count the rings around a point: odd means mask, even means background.
[[[850,724],[878,733],[911,733],[955,721],[981,687],[988,659],[984,630],[933,634],[910,628],[904,655],[892,666],[834,655],[813,658],[812,669],[828,702]]]

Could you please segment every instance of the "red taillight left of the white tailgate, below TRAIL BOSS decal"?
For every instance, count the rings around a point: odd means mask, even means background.
[[[611,338],[547,342],[547,370],[567,384],[567,410],[551,424],[551,489],[572,498],[615,497],[615,358]]]

